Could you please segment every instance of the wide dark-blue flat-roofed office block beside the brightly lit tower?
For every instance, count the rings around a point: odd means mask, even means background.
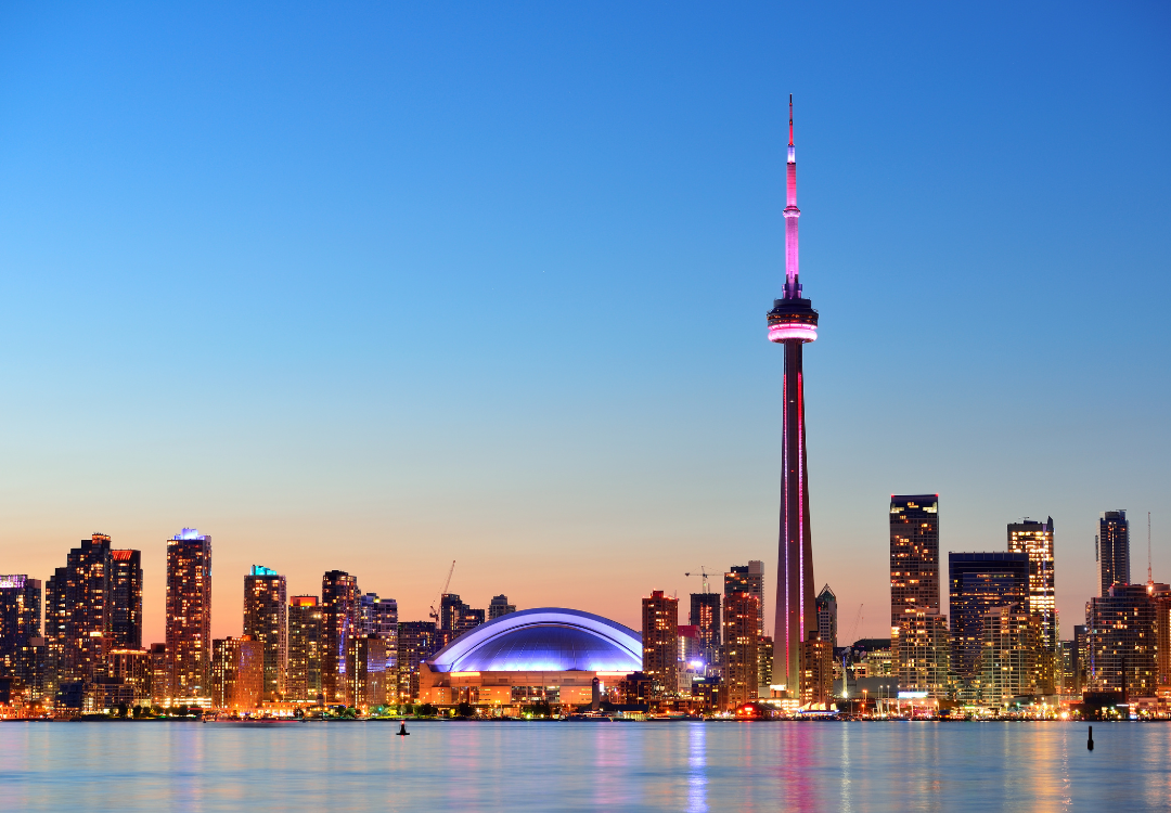
[[[1025,553],[947,554],[951,668],[960,681],[980,677],[984,619],[994,608],[1025,609],[1029,561]]]

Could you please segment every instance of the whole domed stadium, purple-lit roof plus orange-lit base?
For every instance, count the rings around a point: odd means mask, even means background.
[[[419,664],[419,699],[447,705],[589,703],[643,667],[642,636],[581,610],[509,613],[464,633]]]

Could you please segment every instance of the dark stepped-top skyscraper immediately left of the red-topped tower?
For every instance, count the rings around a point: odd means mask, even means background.
[[[93,681],[105,668],[114,613],[110,592],[110,538],[95,533],[66,559],[64,671]]]

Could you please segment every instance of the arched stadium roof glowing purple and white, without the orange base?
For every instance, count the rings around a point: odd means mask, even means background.
[[[427,658],[436,671],[605,671],[643,668],[635,630],[581,610],[543,607],[502,615]]]

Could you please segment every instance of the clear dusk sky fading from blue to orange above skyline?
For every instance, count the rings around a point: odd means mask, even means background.
[[[1171,581],[1156,2],[5,4],[0,572],[139,548],[144,642],[183,527],[217,637],[249,565],[637,628],[760,559],[772,619],[790,93],[840,640],[892,493],[945,560],[1052,515],[1066,637],[1100,512]]]

